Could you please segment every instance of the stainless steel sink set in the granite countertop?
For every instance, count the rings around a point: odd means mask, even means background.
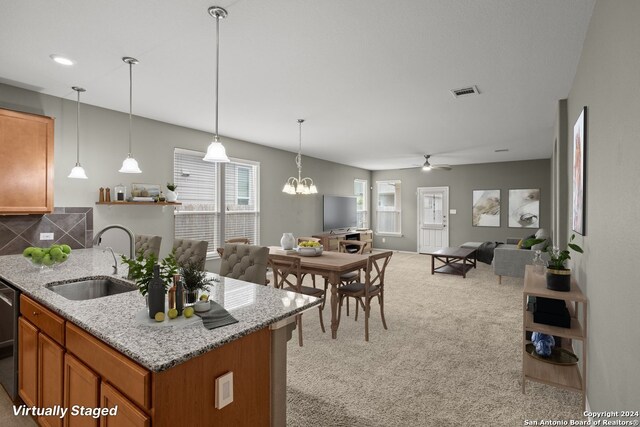
[[[134,284],[115,280],[111,277],[80,279],[65,283],[50,283],[45,285],[45,287],[66,299],[74,301],[102,298],[138,289]]]

